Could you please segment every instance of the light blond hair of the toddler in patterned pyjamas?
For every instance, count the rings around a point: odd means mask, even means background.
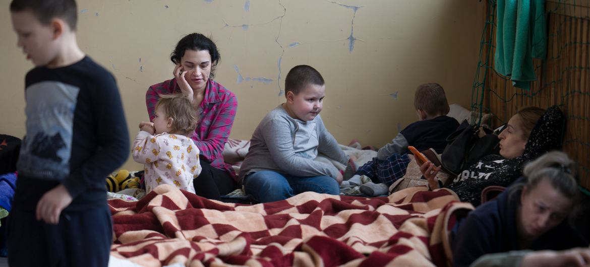
[[[199,121],[191,100],[182,94],[165,94],[160,95],[156,109],[160,106],[164,108],[166,116],[173,119],[172,131],[191,137]]]

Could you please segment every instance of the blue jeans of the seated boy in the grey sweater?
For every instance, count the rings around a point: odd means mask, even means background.
[[[298,177],[261,170],[244,178],[244,189],[254,200],[266,203],[284,200],[303,192],[339,195],[340,186],[329,176]]]

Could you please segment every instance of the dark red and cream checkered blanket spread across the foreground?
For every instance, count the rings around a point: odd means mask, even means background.
[[[457,200],[412,187],[239,205],[162,185],[139,202],[109,200],[111,255],[143,266],[445,266],[454,212],[473,209]]]

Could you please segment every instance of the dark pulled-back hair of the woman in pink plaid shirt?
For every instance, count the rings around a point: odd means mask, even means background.
[[[217,66],[219,60],[221,60],[221,55],[219,55],[219,50],[217,50],[217,45],[215,45],[215,42],[211,41],[211,39],[205,35],[199,34],[198,32],[186,35],[185,37],[182,37],[180,41],[178,41],[176,48],[174,48],[174,51],[172,51],[172,54],[170,55],[170,60],[172,63],[179,64],[186,50],[209,51],[209,55],[211,55],[211,74],[209,78],[212,79],[215,77],[215,67]]]

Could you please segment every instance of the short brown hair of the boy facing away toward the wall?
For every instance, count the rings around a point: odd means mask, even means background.
[[[450,110],[447,95],[442,86],[437,83],[422,84],[416,88],[414,108],[424,111],[428,116],[447,115]]]

